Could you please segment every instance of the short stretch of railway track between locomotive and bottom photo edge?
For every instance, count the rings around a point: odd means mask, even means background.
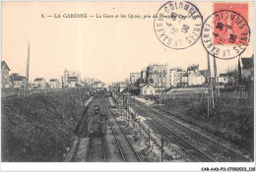
[[[104,143],[103,137],[92,136],[90,138],[88,161],[89,162],[105,162],[106,161],[105,143]]]

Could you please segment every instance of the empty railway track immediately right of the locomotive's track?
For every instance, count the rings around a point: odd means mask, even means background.
[[[111,109],[107,107],[107,105],[105,106],[105,109],[107,112],[108,122],[119,148],[122,160],[124,162],[141,162],[141,157],[134,149],[132,143],[130,143],[121,126],[118,124]]]

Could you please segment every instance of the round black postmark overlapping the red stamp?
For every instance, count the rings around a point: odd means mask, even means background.
[[[205,49],[220,59],[232,59],[246,49],[250,41],[250,28],[236,12],[221,10],[209,16],[202,30]]]

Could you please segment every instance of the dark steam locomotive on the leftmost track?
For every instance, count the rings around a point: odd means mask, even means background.
[[[101,136],[106,133],[107,115],[103,105],[99,101],[94,101],[87,115],[87,133],[90,137]]]

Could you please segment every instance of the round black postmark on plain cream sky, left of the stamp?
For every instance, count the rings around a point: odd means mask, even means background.
[[[203,19],[190,2],[167,2],[160,7],[154,29],[160,42],[173,49],[190,47],[201,35]]]

